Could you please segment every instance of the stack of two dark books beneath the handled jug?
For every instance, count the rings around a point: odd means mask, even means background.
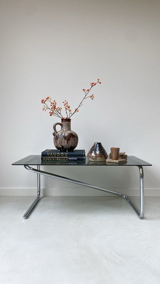
[[[57,149],[47,149],[41,153],[41,160],[44,162],[43,164],[60,164],[57,162],[64,162],[64,164],[84,164],[85,158],[85,150],[60,152]]]

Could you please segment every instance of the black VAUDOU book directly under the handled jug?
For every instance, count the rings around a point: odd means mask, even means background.
[[[73,152],[60,152],[58,149],[45,150],[41,156],[47,157],[85,157],[85,150],[73,150]]]

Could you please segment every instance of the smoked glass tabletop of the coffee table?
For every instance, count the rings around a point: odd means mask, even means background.
[[[58,157],[55,157],[58,158]],[[63,157],[60,157],[63,158]],[[65,158],[65,157],[64,157]],[[128,156],[127,162],[123,163],[110,163],[110,162],[98,162],[98,161],[89,161],[87,156],[84,159],[84,161],[66,161],[66,160],[57,160],[54,161],[41,161],[41,155],[30,155],[27,156],[12,165],[86,165],[86,166],[152,166],[152,164],[149,164],[148,162],[145,162],[135,156]]]

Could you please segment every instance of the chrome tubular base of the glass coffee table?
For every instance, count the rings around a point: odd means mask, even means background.
[[[31,168],[29,165],[24,165],[24,167],[25,167],[25,169],[37,174],[37,197],[33,201],[33,203],[31,204],[31,206],[28,208],[26,213],[23,215],[23,219],[26,219],[28,217],[28,215],[31,213],[33,207],[36,205],[36,203],[38,202],[38,200],[40,198],[40,174],[48,176],[48,177],[53,177],[55,179],[65,180],[65,181],[68,181],[68,182],[71,182],[71,183],[74,183],[74,184],[87,186],[87,187],[90,187],[90,188],[93,188],[93,189],[101,190],[101,191],[104,191],[104,192],[112,193],[114,195],[118,195],[120,197],[123,197],[129,202],[129,204],[135,210],[135,212],[137,213],[139,218],[143,218],[143,216],[144,216],[144,184],[143,184],[143,167],[142,166],[137,166],[139,168],[139,173],[140,173],[140,211],[132,203],[132,201],[129,199],[129,197],[122,194],[122,193],[112,191],[112,190],[109,190],[109,189],[104,189],[104,188],[98,187],[96,185],[86,184],[86,183],[83,183],[83,182],[80,182],[80,181],[77,181],[77,180],[74,180],[74,179],[68,179],[68,178],[59,176],[57,174],[51,174],[51,173],[41,171],[39,165],[37,166],[37,169]]]

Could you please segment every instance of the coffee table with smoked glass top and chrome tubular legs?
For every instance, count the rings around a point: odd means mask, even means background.
[[[149,164],[135,156],[128,156],[127,162],[124,163],[109,163],[109,162],[97,162],[97,161],[89,161],[88,158],[86,157],[84,162],[69,162],[69,161],[63,161],[63,160],[58,160],[58,161],[41,161],[41,155],[30,155],[27,156],[15,163],[13,163],[12,165],[23,165],[25,167],[25,169],[31,171],[32,173],[37,174],[37,197],[36,199],[33,201],[33,203],[31,204],[31,206],[27,209],[26,213],[23,215],[23,219],[26,219],[28,217],[28,215],[31,213],[32,209],[34,208],[34,206],[36,205],[36,203],[38,202],[39,198],[40,198],[40,175],[45,175],[48,177],[53,177],[56,179],[61,179],[61,180],[65,180],[74,184],[79,184],[82,186],[87,186],[93,189],[97,189],[97,190],[101,190],[104,192],[108,192],[108,193],[112,193],[114,195],[120,196],[125,198],[129,204],[133,207],[133,209],[135,210],[135,212],[137,213],[139,218],[143,218],[144,216],[144,177],[143,177],[143,166],[152,166],[152,164]],[[57,167],[57,166],[70,166],[70,168],[72,169],[72,166],[86,166],[86,171],[87,171],[87,167],[88,166],[113,166],[113,167],[123,167],[125,169],[125,167],[127,166],[137,166],[139,168],[139,174],[140,174],[140,210],[138,210],[138,208],[132,203],[132,201],[129,199],[128,196],[126,196],[123,193],[119,193],[113,190],[109,190],[109,189],[105,189],[105,188],[101,188],[98,187],[96,185],[92,185],[92,184],[86,184],[83,181],[78,181],[78,180],[74,180],[74,179],[70,179],[70,178],[66,178],[57,174],[52,174],[49,172],[45,172],[42,171],[40,169],[40,166],[45,166],[45,165],[49,165],[52,167]],[[37,169],[35,169],[32,166],[37,166]],[[113,168],[114,169],[114,168]],[[107,170],[107,168],[106,168]]]

